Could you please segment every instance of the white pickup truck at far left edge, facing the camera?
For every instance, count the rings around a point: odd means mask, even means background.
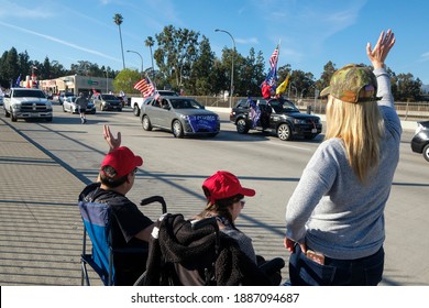
[[[51,122],[53,118],[52,102],[40,89],[11,88],[3,99],[4,117],[12,122],[18,119],[45,119]]]

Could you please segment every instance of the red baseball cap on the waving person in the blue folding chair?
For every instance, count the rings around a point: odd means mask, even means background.
[[[143,158],[134,155],[127,146],[120,146],[108,153],[101,163],[101,168],[111,166],[117,172],[116,177],[131,173],[135,167],[143,165]]]

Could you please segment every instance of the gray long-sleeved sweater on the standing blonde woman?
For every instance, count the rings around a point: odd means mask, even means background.
[[[384,208],[399,160],[402,127],[387,72],[377,68],[374,74],[385,127],[378,167],[362,184],[341,140],[327,140],[304,169],[286,209],[286,237],[332,258],[369,256],[385,239]]]

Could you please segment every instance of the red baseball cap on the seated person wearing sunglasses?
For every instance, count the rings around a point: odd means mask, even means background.
[[[255,196],[256,191],[241,186],[240,180],[229,172],[217,172],[202,183],[202,189],[210,202],[219,199],[230,198],[235,195],[248,197]]]

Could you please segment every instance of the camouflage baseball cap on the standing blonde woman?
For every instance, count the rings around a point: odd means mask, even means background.
[[[377,79],[370,68],[348,64],[333,73],[329,87],[320,96],[331,95],[346,102],[375,101]]]

